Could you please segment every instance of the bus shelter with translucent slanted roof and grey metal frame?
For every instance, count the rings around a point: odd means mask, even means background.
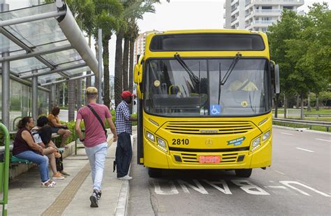
[[[38,90],[50,92],[48,102],[54,105],[54,84],[93,75],[101,79],[98,61],[66,3],[57,0],[18,10],[2,3],[0,9],[1,122],[6,128],[12,118],[10,80],[29,84],[30,90],[22,88],[22,94],[31,100],[21,104],[29,103],[31,116],[37,118]]]

